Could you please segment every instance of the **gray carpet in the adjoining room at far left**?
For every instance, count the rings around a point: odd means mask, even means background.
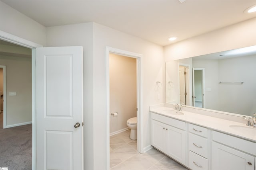
[[[0,167],[32,169],[32,124],[3,129],[0,113]]]

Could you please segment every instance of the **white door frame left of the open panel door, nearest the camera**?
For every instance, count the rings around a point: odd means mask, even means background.
[[[36,170],[36,48],[43,46],[1,30],[0,39],[32,50],[32,170]]]

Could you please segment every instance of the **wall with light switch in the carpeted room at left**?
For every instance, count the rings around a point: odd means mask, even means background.
[[[31,58],[0,56],[6,65],[6,126],[32,121]],[[17,96],[9,96],[17,92]]]

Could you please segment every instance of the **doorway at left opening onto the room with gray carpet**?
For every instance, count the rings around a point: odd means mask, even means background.
[[[0,164],[29,170],[32,169],[32,52],[2,40],[0,47]]]

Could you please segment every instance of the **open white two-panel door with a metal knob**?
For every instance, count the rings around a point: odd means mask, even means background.
[[[82,123],[82,47],[37,48],[37,170],[84,169]]]

